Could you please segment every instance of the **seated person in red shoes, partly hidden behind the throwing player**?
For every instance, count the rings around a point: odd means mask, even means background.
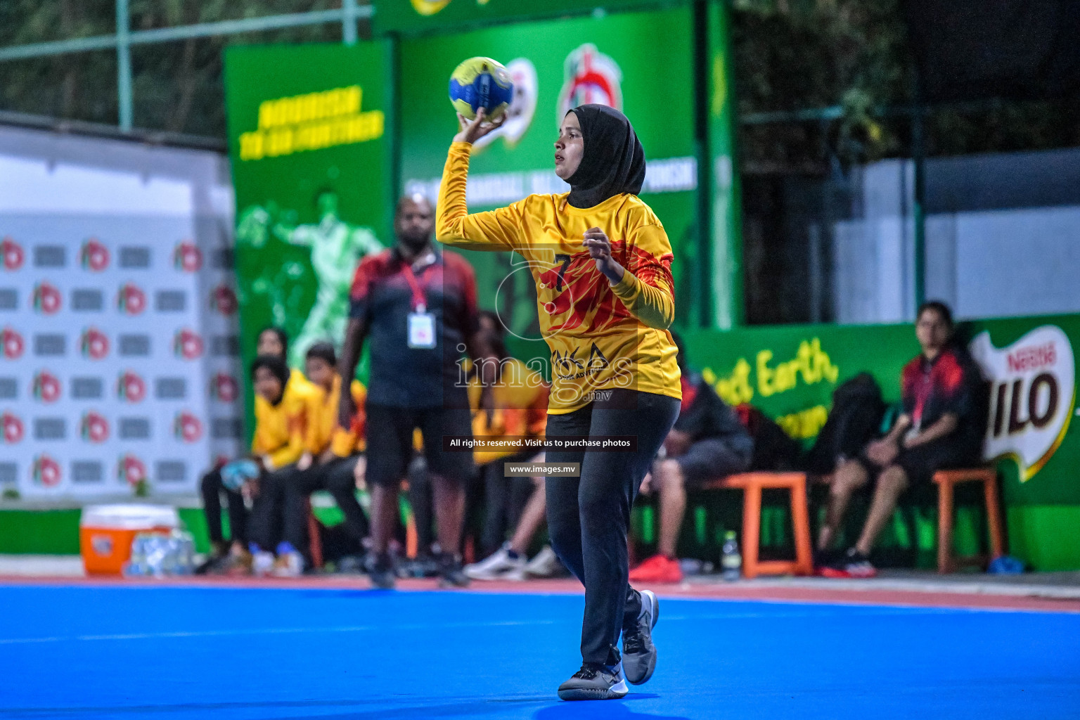
[[[683,580],[675,542],[686,513],[686,489],[745,471],[754,454],[754,440],[739,416],[687,366],[681,338],[674,332],[672,337],[683,373],[683,408],[640,489],[643,494],[660,493],[659,552],[630,572],[631,582]]]

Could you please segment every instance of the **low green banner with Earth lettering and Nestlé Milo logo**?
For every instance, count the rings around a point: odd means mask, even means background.
[[[1080,567],[1080,543],[1040,530],[1059,526],[1048,508],[1068,517],[1080,511],[1080,315],[975,321],[959,332],[989,383],[984,457],[1004,478],[1012,552],[1036,567]],[[728,403],[759,407],[808,444],[839,383],[866,370],[887,400],[899,402],[901,368],[919,352],[912,325],[703,330],[690,334],[687,347],[691,365]]]

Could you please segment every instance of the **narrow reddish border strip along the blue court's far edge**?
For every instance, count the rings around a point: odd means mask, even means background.
[[[245,589],[305,589],[342,590],[370,589],[372,585],[363,575],[323,575],[312,578],[225,578],[187,576],[161,580],[141,578],[56,578],[0,575],[0,586],[51,585],[76,587],[202,587],[202,588],[245,588]],[[468,589],[438,590],[435,580],[402,580],[399,590],[406,592],[454,592],[485,594],[526,595],[581,595],[582,587],[575,580],[534,580],[528,582],[474,582]],[[660,597],[688,600],[740,600],[766,602],[792,602],[816,604],[893,606],[912,608],[955,608],[971,610],[1023,610],[1032,612],[1080,613],[1080,600],[1054,599],[1023,595],[1001,595],[993,593],[941,593],[897,589],[865,589],[850,586],[828,587],[784,587],[733,584],[680,584],[656,585],[653,590]]]

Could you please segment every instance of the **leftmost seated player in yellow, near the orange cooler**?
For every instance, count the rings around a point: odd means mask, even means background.
[[[261,472],[247,488],[255,497],[248,548],[254,556],[253,571],[267,574],[274,565],[270,548],[276,547],[281,556],[295,552],[282,540],[285,491],[310,440],[321,391],[310,383],[295,382],[285,361],[276,355],[255,358],[252,380],[255,386],[252,456]]]

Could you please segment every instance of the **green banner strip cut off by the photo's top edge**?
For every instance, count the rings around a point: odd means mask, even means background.
[[[663,0],[373,0],[376,33],[433,32],[469,25],[582,15],[643,5],[675,4]]]

